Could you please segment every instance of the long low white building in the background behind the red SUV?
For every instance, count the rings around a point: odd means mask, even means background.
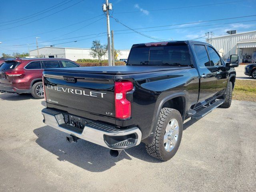
[[[78,59],[97,59],[90,56],[89,48],[62,48],[62,47],[51,47],[46,46],[38,48],[39,56],[43,58],[66,58],[72,61]],[[30,57],[38,57],[37,49],[30,51]],[[120,50],[117,59],[127,59],[130,50]],[[102,57],[102,59],[108,59],[108,54]]]

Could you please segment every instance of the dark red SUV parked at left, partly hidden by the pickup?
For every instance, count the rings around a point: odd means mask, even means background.
[[[42,72],[44,68],[80,67],[75,62],[60,58],[28,58],[5,60],[0,66],[0,92],[31,93],[44,98]]]

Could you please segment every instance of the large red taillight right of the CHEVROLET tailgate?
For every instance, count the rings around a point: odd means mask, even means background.
[[[115,82],[116,118],[126,119],[131,116],[131,102],[126,99],[126,94],[132,88],[133,84],[130,81]]]

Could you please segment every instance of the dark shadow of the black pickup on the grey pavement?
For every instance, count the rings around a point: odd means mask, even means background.
[[[186,130],[194,121],[188,121],[184,124],[183,130]],[[110,156],[109,149],[93,144],[91,142],[79,139],[77,143],[70,144],[66,142],[68,134],[43,126],[34,130],[38,137],[36,143],[52,154],[58,156],[59,161],[68,161],[90,172],[103,172],[116,165],[116,162],[132,157],[151,163],[161,163],[163,161],[149,156],[145,146],[141,143],[138,146],[123,150],[122,153],[114,158]]]

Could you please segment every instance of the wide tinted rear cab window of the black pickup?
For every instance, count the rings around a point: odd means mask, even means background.
[[[186,44],[145,45],[131,49],[126,65],[189,66],[191,62]]]

